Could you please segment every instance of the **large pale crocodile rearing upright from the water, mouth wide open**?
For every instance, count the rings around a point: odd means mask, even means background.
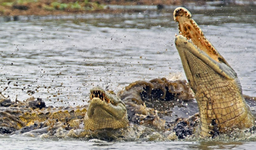
[[[186,8],[176,8],[176,48],[199,107],[198,132],[214,137],[234,128],[250,128],[254,117],[245,103],[236,72],[208,41]]]

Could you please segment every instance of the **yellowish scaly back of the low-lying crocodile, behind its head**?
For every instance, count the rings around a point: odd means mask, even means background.
[[[43,101],[40,98],[36,101],[33,100],[11,104],[9,107],[0,107],[0,127],[20,130],[23,127],[34,125],[37,126],[35,128],[40,128],[40,123],[44,122],[41,125],[48,126],[52,122],[50,120],[56,120],[64,123],[68,128],[79,128],[79,120],[84,118],[87,111],[85,107],[79,106],[34,109],[29,105],[30,102],[40,101],[42,103]]]

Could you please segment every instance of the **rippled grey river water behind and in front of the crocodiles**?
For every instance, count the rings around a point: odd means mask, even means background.
[[[237,72],[243,93],[256,96],[256,9],[214,7],[190,11],[206,37]],[[207,11],[207,12],[206,12]],[[0,18],[0,91],[20,101],[86,105],[94,86],[118,92],[158,77],[186,79],[174,45],[172,13],[23,16]],[[34,94],[27,93],[35,91]],[[255,135],[254,135],[255,136]],[[103,142],[0,135],[6,150],[43,149],[253,149],[254,141]]]

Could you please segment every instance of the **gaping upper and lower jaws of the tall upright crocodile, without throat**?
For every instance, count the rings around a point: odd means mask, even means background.
[[[218,74],[230,80],[235,79],[237,76],[236,72],[210,41],[205,38],[204,33],[191,17],[191,13],[186,8],[179,7],[174,11],[174,20],[179,22],[180,31],[180,35],[175,38],[175,44],[190,84],[193,85],[191,83],[193,82],[193,76],[188,66],[188,58],[184,53],[185,50],[198,57]]]

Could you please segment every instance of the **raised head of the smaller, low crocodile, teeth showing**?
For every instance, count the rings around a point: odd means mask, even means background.
[[[94,87],[90,92],[91,101],[85,116],[85,129],[116,129],[128,125],[125,104],[113,91]]]

